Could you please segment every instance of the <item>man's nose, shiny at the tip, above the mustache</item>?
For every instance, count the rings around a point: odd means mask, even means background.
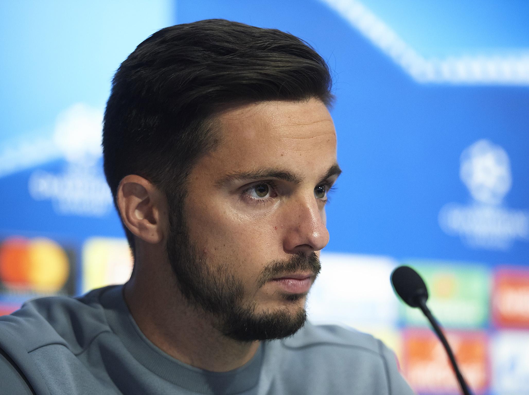
[[[308,194],[307,194],[308,195]],[[284,249],[287,253],[320,251],[329,243],[325,209],[318,207],[312,196],[303,196],[290,202],[285,218]]]

